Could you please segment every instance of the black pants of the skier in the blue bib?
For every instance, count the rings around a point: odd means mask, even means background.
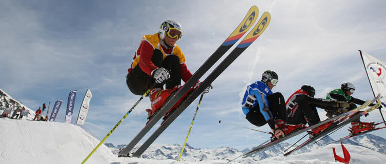
[[[282,119],[286,121],[286,101],[280,92],[273,93],[267,96],[268,106],[272,113],[272,117],[276,119]],[[251,124],[261,127],[267,124],[266,119],[260,112],[260,107],[256,105],[247,113],[246,119]]]

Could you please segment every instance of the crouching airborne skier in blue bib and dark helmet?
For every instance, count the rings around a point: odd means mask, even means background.
[[[273,93],[278,76],[274,71],[267,70],[261,80],[247,87],[241,102],[242,112],[251,124],[261,127],[270,126],[276,138],[284,137],[287,129],[296,129],[298,125],[288,125],[286,119],[286,105],[281,93]]]

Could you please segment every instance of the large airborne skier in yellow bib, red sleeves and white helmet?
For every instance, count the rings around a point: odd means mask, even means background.
[[[143,95],[151,89],[149,97],[152,110],[147,110],[149,117],[178,89],[181,79],[186,82],[192,77],[185,64],[185,55],[176,45],[181,36],[181,25],[173,20],[166,20],[157,33],[142,37],[139,48],[134,53],[126,84],[135,95]],[[155,83],[155,87],[150,88]],[[163,90],[164,84],[166,90]],[[208,93],[210,88],[211,86],[203,93]]]

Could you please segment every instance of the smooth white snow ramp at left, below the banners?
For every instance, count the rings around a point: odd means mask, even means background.
[[[98,142],[72,124],[0,119],[2,163],[80,163]],[[115,159],[103,145],[88,163],[111,163]]]

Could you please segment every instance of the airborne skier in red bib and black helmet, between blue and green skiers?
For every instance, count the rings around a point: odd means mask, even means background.
[[[314,98],[315,89],[310,85],[303,85],[295,91],[286,101],[287,108],[287,124],[309,124],[313,126],[320,122],[319,114],[316,110],[318,108],[349,108],[349,103],[346,101],[334,101],[322,98]],[[327,128],[332,122],[313,129],[314,134]]]

